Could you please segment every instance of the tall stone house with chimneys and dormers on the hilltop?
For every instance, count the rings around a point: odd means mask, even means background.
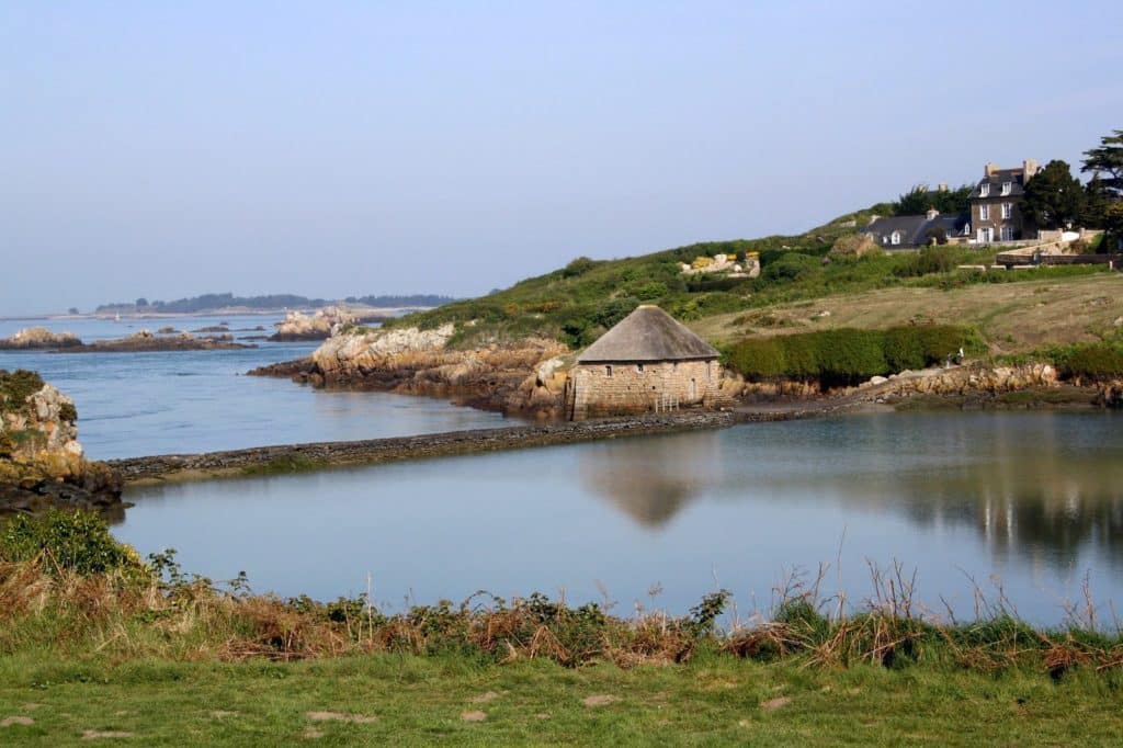
[[[1032,158],[1023,161],[1021,168],[999,168],[989,163],[983,167],[983,179],[970,195],[976,244],[1037,238],[1037,227],[1022,216],[1020,206],[1025,199],[1025,182],[1039,171]]]

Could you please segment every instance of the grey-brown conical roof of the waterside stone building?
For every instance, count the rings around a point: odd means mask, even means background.
[[[578,364],[716,358],[709,343],[651,304],[636,308],[577,357]]]

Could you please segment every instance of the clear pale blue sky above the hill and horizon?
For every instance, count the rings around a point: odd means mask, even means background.
[[[1120,2],[0,0],[0,314],[477,295],[1078,164]]]

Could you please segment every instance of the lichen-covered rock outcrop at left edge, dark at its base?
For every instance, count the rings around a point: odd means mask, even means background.
[[[74,402],[34,372],[0,370],[0,513],[121,505],[121,478],[83,457]]]

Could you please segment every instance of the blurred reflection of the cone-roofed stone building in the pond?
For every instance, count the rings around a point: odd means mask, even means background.
[[[716,432],[590,445],[578,458],[582,483],[649,529],[722,482]]]

